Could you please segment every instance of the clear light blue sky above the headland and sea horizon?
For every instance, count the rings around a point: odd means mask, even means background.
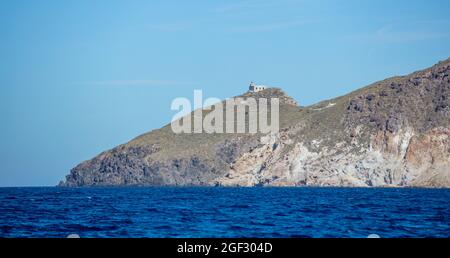
[[[55,185],[194,89],[309,105],[446,59],[450,1],[1,1],[0,37],[0,186]]]

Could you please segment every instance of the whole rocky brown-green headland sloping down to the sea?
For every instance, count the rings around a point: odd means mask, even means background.
[[[450,59],[309,107],[279,89],[273,134],[173,134],[170,125],[72,169],[61,186],[450,187]]]

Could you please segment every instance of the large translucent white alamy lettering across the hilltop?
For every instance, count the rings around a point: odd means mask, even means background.
[[[278,98],[231,98],[221,101],[194,91],[194,104],[188,98],[172,101],[171,109],[179,111],[172,118],[174,133],[274,133],[278,132]],[[193,111],[193,112],[192,112]]]

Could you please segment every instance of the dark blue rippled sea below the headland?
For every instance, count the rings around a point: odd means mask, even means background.
[[[0,237],[450,237],[450,189],[0,188]]]

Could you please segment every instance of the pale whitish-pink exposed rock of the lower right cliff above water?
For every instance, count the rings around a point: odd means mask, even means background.
[[[450,187],[450,128],[417,135],[412,128],[372,135],[370,146],[337,143],[314,152],[289,133],[261,138],[261,146],[237,160],[225,186]],[[314,140],[317,147],[319,140]]]

